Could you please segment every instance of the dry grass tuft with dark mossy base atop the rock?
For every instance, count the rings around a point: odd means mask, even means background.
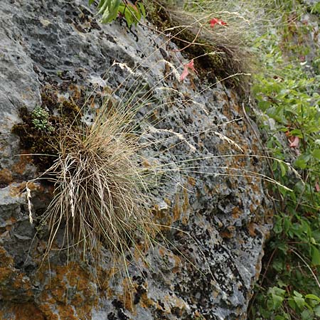
[[[256,3],[242,1],[170,1],[147,2],[149,16],[161,31],[172,37],[180,50],[195,60],[201,78],[210,82],[228,79],[227,83],[247,90],[257,68],[252,43],[259,33],[263,9]],[[210,27],[210,19],[219,18],[228,26]],[[241,75],[245,74],[245,75]]]

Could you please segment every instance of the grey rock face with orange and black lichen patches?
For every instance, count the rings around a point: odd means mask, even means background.
[[[173,66],[181,73],[187,61],[168,38],[121,21],[102,26],[87,1],[2,0],[0,17],[0,319],[246,319],[272,207],[249,173],[265,172],[262,161],[223,156],[241,154],[223,135],[245,154],[260,149],[235,92],[196,75],[180,82]],[[95,274],[59,250],[41,264],[46,235],[29,223],[25,192],[37,168],[11,133],[19,109],[55,112],[52,104],[126,78],[115,97],[151,90],[137,118],[159,142],[144,159],[171,164],[152,190],[155,217],[172,227],[167,240],[127,274],[108,252]],[[37,219],[51,191],[31,187]]]

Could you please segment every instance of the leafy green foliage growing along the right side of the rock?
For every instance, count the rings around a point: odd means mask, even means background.
[[[293,192],[272,190],[278,212],[250,319],[320,316],[320,75],[299,59],[304,46],[297,38],[308,29],[295,26],[274,26],[257,41],[265,70],[255,76],[253,91],[260,110],[273,120],[271,129],[262,124],[266,146],[275,158],[291,162],[301,178],[289,166],[272,164],[274,177]]]

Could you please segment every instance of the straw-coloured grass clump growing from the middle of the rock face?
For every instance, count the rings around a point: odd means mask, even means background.
[[[64,247],[85,259],[103,245],[113,257],[130,247],[148,249],[156,227],[142,169],[132,112],[102,107],[91,127],[61,128],[58,159],[43,175],[55,183],[53,201],[41,220],[50,236],[46,255],[65,226]]]

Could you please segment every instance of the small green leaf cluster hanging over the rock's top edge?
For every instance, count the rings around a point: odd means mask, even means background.
[[[89,4],[94,4],[95,0],[89,0]],[[137,1],[136,4],[129,4],[127,0],[100,0],[97,5],[98,13],[102,14],[102,23],[110,23],[118,16],[126,19],[130,28],[132,24],[137,25],[142,17],[146,17],[144,4]]]

